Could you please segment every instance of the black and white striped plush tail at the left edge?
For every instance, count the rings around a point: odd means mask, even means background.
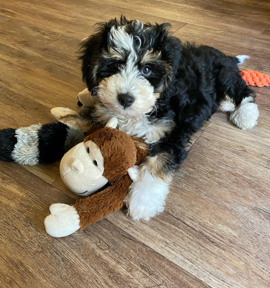
[[[24,165],[51,163],[82,142],[84,134],[55,121],[0,130],[0,160]]]

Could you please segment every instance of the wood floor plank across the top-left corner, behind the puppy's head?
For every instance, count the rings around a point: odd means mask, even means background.
[[[4,11],[2,13],[6,17],[17,19],[18,15],[20,15],[20,19],[23,21],[43,29],[64,34],[65,36],[74,36],[78,40],[91,34],[94,31],[93,25],[95,23],[108,21],[115,17],[119,18],[121,14],[131,19],[152,22],[162,23],[170,20],[175,30],[185,25],[183,21],[174,21],[164,17],[164,15],[153,16],[147,13],[147,10],[134,13],[132,9],[129,9],[129,6],[112,9],[108,3],[103,5],[101,3],[91,3],[87,0],[80,0],[76,4],[74,4],[74,1],[48,1],[43,3],[32,0],[17,3],[17,1],[13,0],[8,2],[8,4],[4,3],[3,8]],[[53,22],[51,21],[52,16],[54,17]]]

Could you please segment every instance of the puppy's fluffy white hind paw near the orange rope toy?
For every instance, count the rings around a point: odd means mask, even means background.
[[[257,104],[252,103],[252,101],[252,97],[244,98],[230,116],[230,120],[242,130],[252,128],[257,124],[259,110]]]

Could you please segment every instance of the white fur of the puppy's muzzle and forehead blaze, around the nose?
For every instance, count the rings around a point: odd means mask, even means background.
[[[143,24],[134,21],[132,25]],[[137,67],[136,50],[140,47],[140,41],[136,41],[131,34],[126,33],[126,27],[112,27],[109,36],[109,55],[103,52],[103,56],[108,58],[122,57],[128,55],[126,63],[119,67],[119,71],[107,78],[104,78],[98,86],[97,95],[102,103],[113,112],[119,115],[136,116],[150,112],[159,97],[158,93],[154,93],[154,87],[147,81]],[[136,49],[135,49],[136,45]],[[149,51],[146,58],[150,57],[153,51]],[[106,55],[105,55],[106,54]],[[134,103],[124,108],[118,101],[119,94],[129,94],[135,98]]]

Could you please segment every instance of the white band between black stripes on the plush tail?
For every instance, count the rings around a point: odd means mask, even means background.
[[[39,163],[38,130],[41,124],[16,129],[17,143],[11,153],[12,159],[23,165],[36,165]]]

